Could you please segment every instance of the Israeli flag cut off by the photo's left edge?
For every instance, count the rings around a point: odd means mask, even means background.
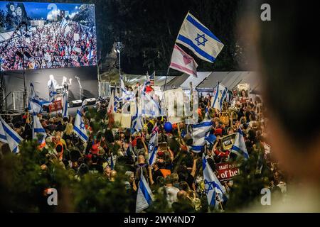
[[[0,121],[1,121],[1,126],[0,126],[1,141],[5,141],[4,139],[6,139],[5,143],[9,144],[9,148],[11,152],[18,153],[19,152],[18,145],[19,143],[21,143],[23,139],[21,138],[20,135],[18,135],[18,133],[16,133],[16,131],[14,131],[14,129],[12,129],[6,123],[6,121],[4,121],[3,118],[1,118],[1,116],[0,116]]]

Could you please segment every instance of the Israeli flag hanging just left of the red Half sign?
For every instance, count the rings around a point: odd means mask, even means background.
[[[205,183],[205,192],[208,199],[208,205],[218,209],[219,203],[227,201],[227,196],[225,196],[225,187],[220,183],[218,177],[215,176],[213,170],[211,170],[206,156],[203,153],[202,156],[203,165],[203,179]]]

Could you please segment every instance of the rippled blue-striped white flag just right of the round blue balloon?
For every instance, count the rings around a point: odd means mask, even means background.
[[[200,153],[203,146],[206,144],[206,135],[211,129],[212,121],[202,121],[201,123],[192,126],[193,145],[192,150],[195,153]]]

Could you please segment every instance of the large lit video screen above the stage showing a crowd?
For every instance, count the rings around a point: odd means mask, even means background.
[[[19,28],[20,29],[16,29]],[[1,70],[97,65],[94,4],[0,1]]]

